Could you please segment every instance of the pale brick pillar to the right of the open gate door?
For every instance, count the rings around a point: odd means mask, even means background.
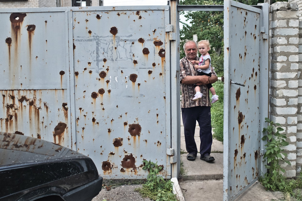
[[[272,121],[280,123],[289,145],[284,147],[291,166],[283,163],[284,176],[295,177],[301,168],[297,160],[302,144],[297,142],[299,72],[299,11],[296,3],[277,2],[270,7],[271,113]],[[300,115],[301,116],[301,115]],[[301,131],[301,130],[299,130]],[[302,136],[301,136],[302,138]]]

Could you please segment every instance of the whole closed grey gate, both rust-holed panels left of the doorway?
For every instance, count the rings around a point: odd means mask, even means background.
[[[171,178],[168,6],[1,9],[0,18],[1,131],[76,149],[104,178],[146,178],[143,160]]]

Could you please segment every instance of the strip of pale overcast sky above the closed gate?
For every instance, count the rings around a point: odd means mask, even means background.
[[[167,5],[168,0],[104,0],[104,6],[158,6]]]

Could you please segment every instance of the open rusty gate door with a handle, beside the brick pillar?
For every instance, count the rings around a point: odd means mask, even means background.
[[[267,44],[268,24],[265,27],[262,19],[268,19],[268,12],[264,15],[261,6],[255,8],[235,1],[224,3],[223,189],[224,200],[234,200],[257,180],[262,163],[260,121],[264,121],[265,111],[261,112],[260,106],[265,103],[260,103],[260,97],[267,93],[261,90],[268,89],[268,84],[264,82],[260,86],[260,81],[268,79],[265,78],[268,63],[264,60],[268,61],[268,54],[260,58],[260,53],[265,52],[263,43]]]

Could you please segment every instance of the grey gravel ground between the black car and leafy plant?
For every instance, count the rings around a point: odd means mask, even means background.
[[[152,201],[149,198],[143,198],[134,189],[142,187],[143,180],[104,180],[103,189],[92,199],[92,201]],[[107,190],[108,189],[108,190]]]

